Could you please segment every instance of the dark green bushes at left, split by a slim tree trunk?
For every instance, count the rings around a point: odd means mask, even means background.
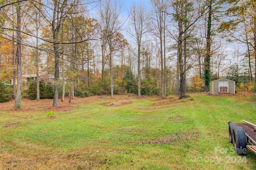
[[[39,91],[40,91],[40,99],[53,99],[54,97],[54,87],[52,83],[49,81],[45,83],[44,80],[39,81]],[[28,99],[35,100],[36,99],[36,81],[32,81],[28,87]]]

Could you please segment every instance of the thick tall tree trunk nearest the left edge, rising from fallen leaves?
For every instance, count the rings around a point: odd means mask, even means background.
[[[21,103],[21,79],[22,79],[22,66],[21,66],[21,33],[20,33],[20,2],[17,3],[16,6],[17,11],[17,26],[16,26],[16,40],[17,40],[17,51],[16,51],[16,57],[17,57],[17,71],[18,71],[18,81],[17,81],[17,92],[16,92],[16,98],[15,98],[15,104],[14,108],[20,108]]]

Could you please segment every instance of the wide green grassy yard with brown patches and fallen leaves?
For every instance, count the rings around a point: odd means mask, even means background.
[[[31,102],[0,103],[0,170],[256,169],[256,155],[234,154],[228,138],[228,121],[256,123],[252,93]]]

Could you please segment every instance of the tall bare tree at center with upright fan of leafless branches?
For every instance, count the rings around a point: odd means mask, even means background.
[[[140,97],[140,81],[141,81],[141,68],[140,68],[140,54],[141,46],[143,44],[142,38],[147,32],[147,19],[146,7],[143,4],[135,5],[133,4],[131,8],[130,16],[130,27],[128,28],[128,34],[136,42],[137,48],[137,57],[138,57],[138,97]],[[135,34],[134,34],[135,32]]]

